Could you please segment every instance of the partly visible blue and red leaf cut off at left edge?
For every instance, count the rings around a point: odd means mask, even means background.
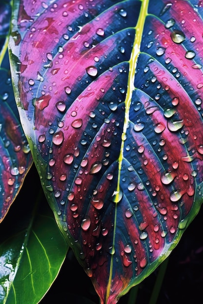
[[[32,155],[20,125],[8,60],[10,1],[0,2],[0,222],[16,198],[32,164]]]

